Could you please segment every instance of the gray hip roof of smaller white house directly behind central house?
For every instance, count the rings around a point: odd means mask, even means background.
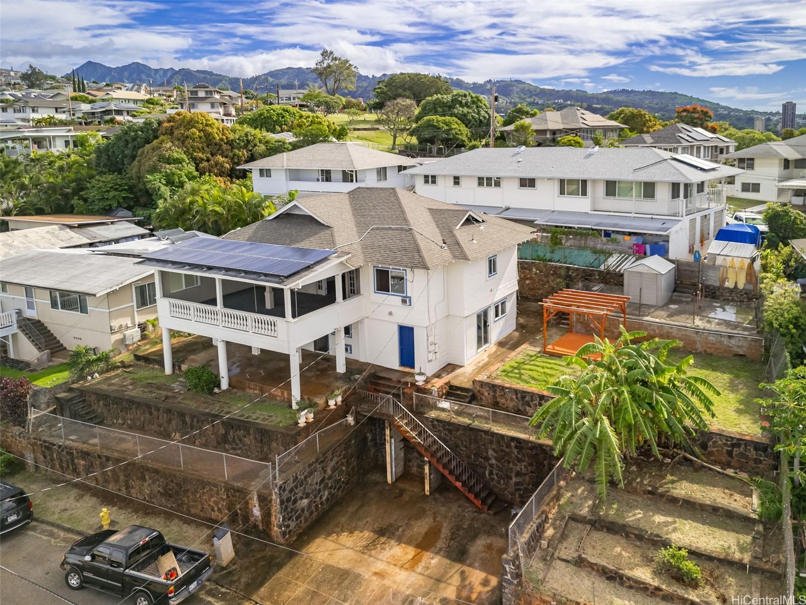
[[[382,166],[413,165],[408,157],[380,152],[355,143],[317,143],[292,152],[278,153],[239,168],[322,168],[359,170]]]

